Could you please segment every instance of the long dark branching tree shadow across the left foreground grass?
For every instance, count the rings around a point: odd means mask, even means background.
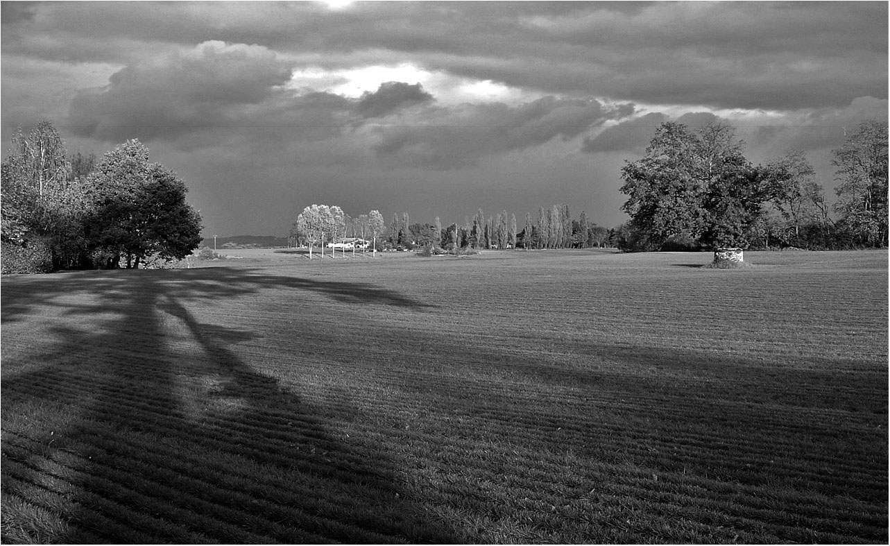
[[[40,306],[85,325],[62,322],[12,362],[4,351],[4,542],[454,542],[400,495],[399,461],[372,438],[344,441],[348,400],[282,387],[231,349],[260,332],[186,305],[260,289],[425,304],[249,270],[117,273],[4,286],[4,326]],[[30,522],[15,520],[22,499]]]

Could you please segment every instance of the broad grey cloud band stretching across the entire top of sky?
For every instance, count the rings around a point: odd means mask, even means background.
[[[325,68],[413,60],[547,94],[716,108],[843,107],[887,94],[887,4],[61,3],[4,24],[4,51],[127,56],[206,40]],[[5,22],[5,21],[4,21]],[[104,48],[104,49],[103,49]]]

